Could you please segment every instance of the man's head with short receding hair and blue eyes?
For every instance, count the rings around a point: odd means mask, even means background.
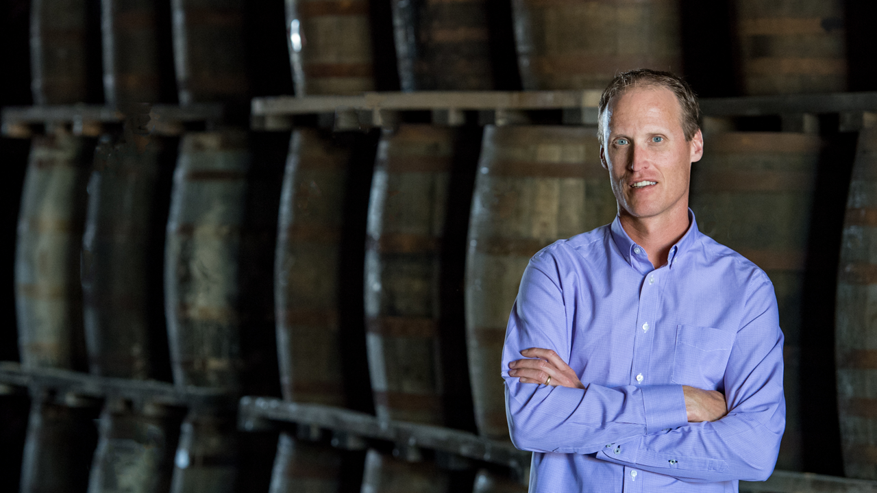
[[[600,157],[623,218],[688,224],[691,163],[703,151],[698,116],[694,93],[675,75],[635,70],[610,82],[600,100]]]

